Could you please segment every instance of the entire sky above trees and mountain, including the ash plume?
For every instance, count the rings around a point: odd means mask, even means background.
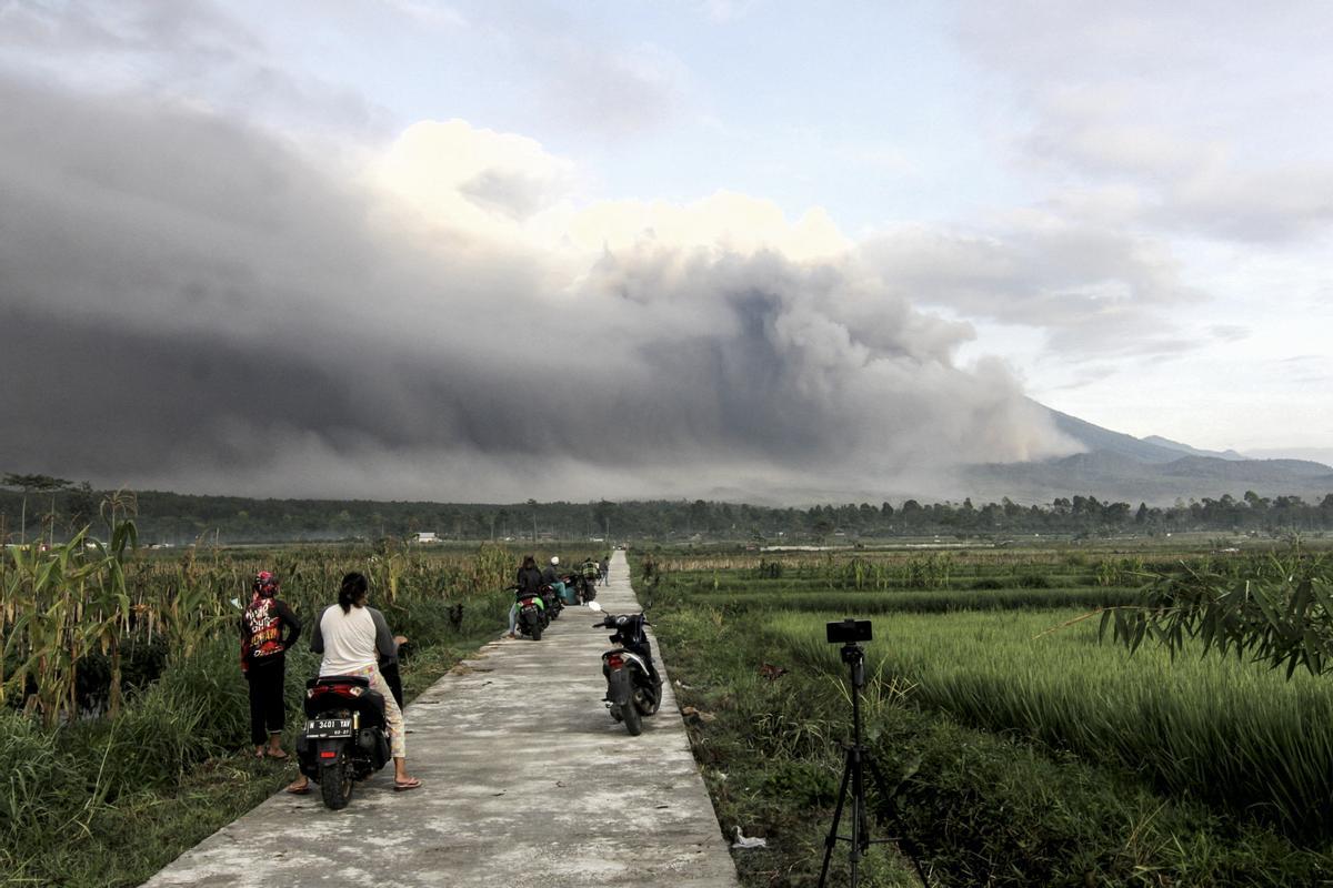
[[[0,0],[0,469],[876,501],[1333,455],[1322,3]]]

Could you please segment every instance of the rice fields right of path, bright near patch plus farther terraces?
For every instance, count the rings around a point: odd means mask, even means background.
[[[768,663],[841,676],[824,623],[873,618],[866,666],[902,700],[1240,821],[1333,839],[1333,678],[1098,635],[1173,570],[1280,579],[1280,551],[1205,547],[656,556],[669,606],[746,624]],[[1317,558],[1308,560],[1317,570]]]

